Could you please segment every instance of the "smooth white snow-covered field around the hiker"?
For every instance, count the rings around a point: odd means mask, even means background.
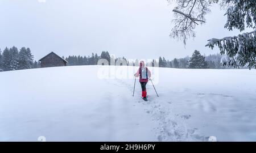
[[[146,102],[138,79],[133,97],[134,78],[117,77],[138,67],[102,69],[0,73],[0,141],[256,141],[256,70],[159,68]]]

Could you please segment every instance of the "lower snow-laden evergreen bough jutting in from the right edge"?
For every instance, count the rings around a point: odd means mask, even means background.
[[[247,66],[249,69],[256,67],[256,29],[238,36],[213,38],[208,40],[205,46],[213,49],[214,45],[218,46],[221,54],[226,54],[229,57],[226,58],[229,61],[226,61],[224,65]]]

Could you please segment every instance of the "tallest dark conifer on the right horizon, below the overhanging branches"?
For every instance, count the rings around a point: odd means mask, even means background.
[[[193,52],[192,57],[189,60],[190,69],[207,69],[207,62],[205,57],[200,54],[198,50]]]

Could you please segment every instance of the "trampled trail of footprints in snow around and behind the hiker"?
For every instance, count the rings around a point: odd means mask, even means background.
[[[112,83],[118,87],[133,88],[127,81],[121,79],[114,79]],[[172,113],[172,107],[164,107],[161,97],[156,97],[154,95],[155,93],[151,93],[152,95],[149,96],[148,101],[142,100],[140,98],[141,91],[138,80],[137,86],[139,86],[139,88],[137,87],[137,94],[135,94],[134,99],[137,99],[138,103],[144,107],[144,112],[150,114],[152,121],[157,123],[158,126],[153,128],[153,130],[155,131],[158,141],[208,141],[209,137],[197,134],[196,128],[187,129],[182,119],[188,120],[191,117],[190,115]],[[151,88],[152,86],[147,85],[147,90],[154,92]],[[132,92],[132,90],[129,91]],[[166,103],[166,101],[164,102]],[[167,101],[167,103],[172,104],[170,101]]]

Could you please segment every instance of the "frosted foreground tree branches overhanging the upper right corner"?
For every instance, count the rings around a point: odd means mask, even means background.
[[[167,0],[171,1],[171,0]],[[208,40],[213,49],[218,46],[221,54],[228,56],[225,65],[238,67],[248,66],[250,69],[256,67],[256,1],[255,0],[176,0],[174,28],[171,35],[184,41],[189,37],[195,37],[195,28],[199,23],[205,23],[205,15],[210,12],[212,3],[218,3],[226,9],[225,28],[229,31],[233,28],[241,32],[247,28],[254,30],[241,33],[237,36],[224,37],[222,39]]]

